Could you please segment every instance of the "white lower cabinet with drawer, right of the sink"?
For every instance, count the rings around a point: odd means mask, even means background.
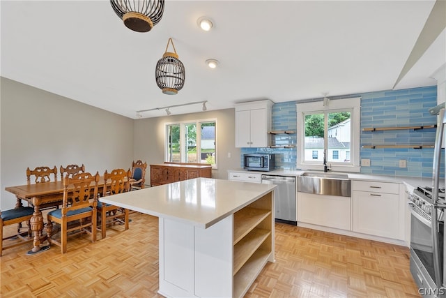
[[[353,231],[392,239],[401,233],[399,184],[353,181]]]

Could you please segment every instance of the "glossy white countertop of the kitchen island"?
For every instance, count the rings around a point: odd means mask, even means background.
[[[195,178],[100,198],[144,214],[209,228],[269,193],[276,186],[212,178]]]

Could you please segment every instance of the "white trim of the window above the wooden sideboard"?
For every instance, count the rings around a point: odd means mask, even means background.
[[[181,137],[182,135],[185,135],[185,125],[186,124],[196,124],[197,128],[201,128],[201,124],[202,123],[206,123],[206,122],[215,122],[215,165],[213,165],[213,169],[217,170],[217,118],[206,118],[206,119],[191,119],[191,120],[182,120],[182,121],[172,121],[172,122],[164,122],[164,161],[167,161],[167,158],[169,157],[169,146],[168,146],[168,142],[169,142],[169,126],[171,125],[179,125],[180,126],[180,147],[184,147],[185,146],[185,139],[184,137]],[[198,160],[201,161],[201,133],[197,133],[197,158],[199,158]],[[198,146],[198,144],[200,146]],[[199,149],[198,149],[199,147]],[[185,156],[184,156],[184,152],[183,150],[180,150],[180,159],[181,159],[181,163],[185,162]]]

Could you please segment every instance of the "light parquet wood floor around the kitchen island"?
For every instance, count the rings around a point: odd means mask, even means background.
[[[93,244],[88,234],[68,239],[64,255],[3,251],[0,297],[162,297],[157,218],[130,218],[130,230],[107,229]],[[245,297],[420,297],[403,246],[276,223],[275,250]]]

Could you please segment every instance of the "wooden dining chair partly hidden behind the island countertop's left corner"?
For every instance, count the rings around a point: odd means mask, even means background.
[[[104,188],[102,191],[102,197],[129,191],[129,179],[131,174],[132,172],[130,172],[130,169],[128,171],[123,169],[115,169],[110,173],[108,173],[106,170],[104,173]],[[98,224],[98,230],[101,232],[102,239],[104,239],[106,236],[107,226],[112,226],[119,223],[124,225],[124,230],[128,230],[129,228],[128,209],[100,202],[99,199],[98,214],[100,214],[100,224]]]

